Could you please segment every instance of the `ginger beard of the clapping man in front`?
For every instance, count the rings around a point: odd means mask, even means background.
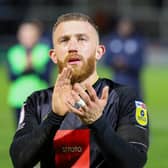
[[[63,68],[68,65],[68,59],[70,56],[67,56],[64,62],[58,60],[58,72],[61,73]],[[80,57],[80,65],[71,65],[72,67],[72,78],[71,78],[71,84],[74,84],[76,82],[82,82],[85,79],[87,79],[90,75],[93,74],[95,67],[96,67],[96,58],[95,54],[91,55],[87,60],[84,60],[82,56],[78,55]],[[82,64],[82,65],[81,65]]]

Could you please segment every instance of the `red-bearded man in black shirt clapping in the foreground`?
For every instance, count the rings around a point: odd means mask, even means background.
[[[82,13],[53,26],[54,87],[31,94],[10,146],[14,167],[142,168],[147,161],[147,108],[134,90],[100,78],[105,52],[93,20]]]

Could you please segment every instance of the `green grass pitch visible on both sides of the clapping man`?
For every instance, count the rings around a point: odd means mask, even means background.
[[[104,67],[98,68],[99,75],[111,78],[111,72]],[[14,121],[11,109],[7,105],[9,81],[5,68],[0,66],[0,164],[12,168],[9,158],[9,145],[14,133]],[[149,109],[151,135],[148,162],[145,168],[168,167],[168,68],[146,67],[143,72],[145,101]],[[23,156],[24,157],[24,156]]]

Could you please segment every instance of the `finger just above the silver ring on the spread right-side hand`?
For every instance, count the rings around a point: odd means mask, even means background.
[[[76,83],[73,89],[78,93],[78,95],[80,95],[80,97],[85,101],[86,104],[89,105],[91,103],[89,95],[79,83]]]

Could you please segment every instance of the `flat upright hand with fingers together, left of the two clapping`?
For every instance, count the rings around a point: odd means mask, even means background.
[[[52,110],[54,113],[64,116],[68,112],[66,99],[71,99],[71,77],[72,69],[66,67],[58,75],[52,95]]]

